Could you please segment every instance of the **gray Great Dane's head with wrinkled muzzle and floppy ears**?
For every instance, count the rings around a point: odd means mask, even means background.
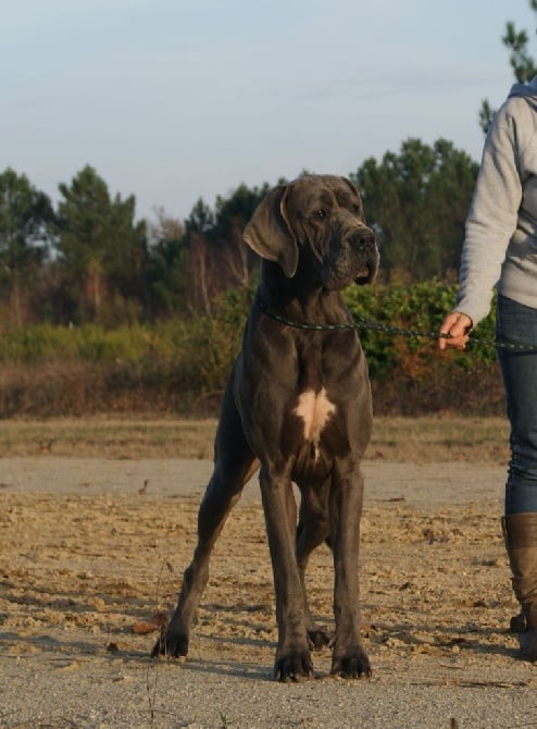
[[[245,240],[288,277],[301,264],[312,267],[329,291],[371,283],[378,270],[375,235],[346,177],[305,175],[274,188],[246,226]]]

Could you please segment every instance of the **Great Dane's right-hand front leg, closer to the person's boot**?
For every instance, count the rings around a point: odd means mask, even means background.
[[[360,473],[334,477],[330,493],[330,531],[334,551],[334,615],[332,674],[344,678],[371,676],[360,639],[358,554],[363,479]]]

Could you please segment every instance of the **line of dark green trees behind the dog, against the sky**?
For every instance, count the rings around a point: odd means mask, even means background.
[[[408,139],[398,153],[349,173],[378,237],[385,282],[453,280],[476,174],[477,163],[446,139]],[[213,208],[199,199],[186,220],[160,209],[148,221],[136,220],[134,195],[112,195],[90,165],[59,185],[55,206],[8,168],[0,174],[1,321],[114,326],[208,313],[224,291],[255,281],[242,230],[270,187],[242,184]]]

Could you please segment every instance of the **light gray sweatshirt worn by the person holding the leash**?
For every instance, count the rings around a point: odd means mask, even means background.
[[[537,76],[495,116],[466,219],[455,311],[474,324],[492,289],[537,309]]]

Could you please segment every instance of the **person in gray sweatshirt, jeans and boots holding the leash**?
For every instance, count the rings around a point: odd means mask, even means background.
[[[537,76],[515,84],[487,134],[439,349],[464,349],[497,289],[496,336],[511,457],[503,534],[521,615],[521,654],[537,660]]]

